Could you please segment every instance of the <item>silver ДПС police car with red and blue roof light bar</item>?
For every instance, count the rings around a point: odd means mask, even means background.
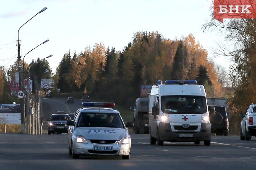
[[[113,109],[115,103],[82,104],[85,107],[78,109],[73,121],[67,121],[69,154],[130,159],[131,137],[119,111]]]

